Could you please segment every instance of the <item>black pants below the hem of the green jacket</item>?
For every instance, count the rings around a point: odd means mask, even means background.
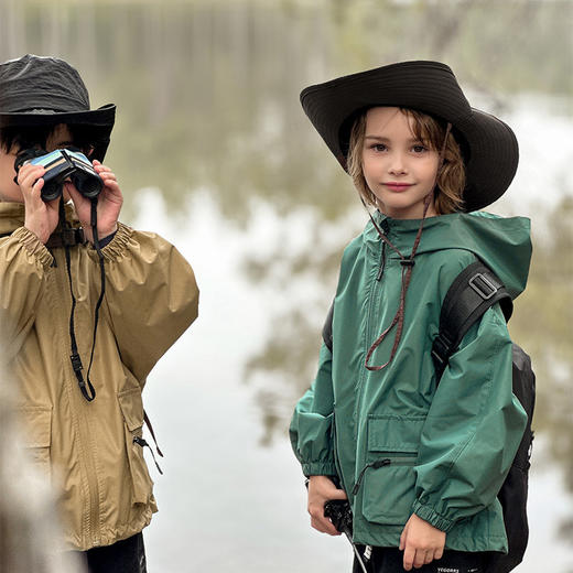
[[[358,545],[364,554],[364,547]],[[412,566],[411,573],[486,573],[490,553],[466,553],[465,551],[444,551],[442,559],[432,561],[420,569]],[[368,573],[403,573],[403,551],[393,548],[372,548],[372,555],[366,562]],[[353,573],[363,573],[357,559],[354,560]]]

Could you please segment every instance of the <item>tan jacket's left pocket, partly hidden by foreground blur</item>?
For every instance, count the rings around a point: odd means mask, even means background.
[[[42,474],[51,476],[50,446],[52,444],[52,408],[22,407],[18,410],[23,425],[23,446]]]

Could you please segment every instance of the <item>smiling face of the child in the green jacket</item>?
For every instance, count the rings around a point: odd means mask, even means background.
[[[439,153],[418,140],[412,119],[398,108],[376,107],[366,115],[363,172],[379,208],[396,219],[419,219],[432,191]],[[428,215],[435,215],[433,202]]]

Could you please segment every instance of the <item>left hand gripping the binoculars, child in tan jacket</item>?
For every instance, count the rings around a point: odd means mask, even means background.
[[[24,227],[32,231],[44,245],[57,227],[60,220],[60,199],[48,203],[42,201],[44,186],[42,176],[45,174],[42,165],[25,164],[18,172],[18,184],[24,199]]]

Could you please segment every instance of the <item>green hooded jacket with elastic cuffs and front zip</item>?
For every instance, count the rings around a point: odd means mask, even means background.
[[[376,217],[409,256],[420,220]],[[516,298],[529,271],[529,219],[486,213],[428,218],[398,352],[383,370],[369,371],[366,353],[399,306],[400,258],[382,249],[371,223],[345,249],[333,352],[323,344],[318,372],[296,404],[290,435],[306,476],[339,476],[358,543],[398,547],[414,512],[446,532],[446,549],[507,551],[496,496],[527,417],[511,391],[511,340],[499,305],[468,331],[437,389],[431,358],[447,289],[476,257]],[[388,360],[394,331],[370,365]]]

